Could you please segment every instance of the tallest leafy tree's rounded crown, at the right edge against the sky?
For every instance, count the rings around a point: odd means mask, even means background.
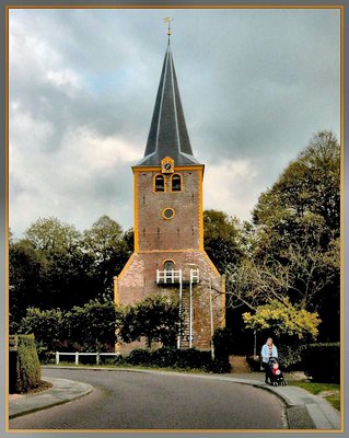
[[[340,147],[330,131],[317,132],[253,211],[261,250],[279,253],[290,243],[323,250],[340,234]]]

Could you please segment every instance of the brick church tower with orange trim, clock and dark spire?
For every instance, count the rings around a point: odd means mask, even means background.
[[[132,166],[135,252],[114,285],[121,306],[160,293],[178,299],[178,348],[209,349],[225,318],[224,285],[203,250],[203,168],[193,154],[168,37],[144,157]],[[143,346],[120,350],[136,345]]]

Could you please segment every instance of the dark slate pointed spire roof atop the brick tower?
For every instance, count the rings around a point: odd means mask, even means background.
[[[174,159],[175,164],[198,164],[193,157],[184,118],[170,38],[146,152],[138,165],[160,165],[161,160],[165,157]]]

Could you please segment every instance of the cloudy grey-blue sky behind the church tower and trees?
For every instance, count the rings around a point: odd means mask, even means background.
[[[318,130],[339,138],[340,22],[330,9],[10,10],[10,228],[39,217],[132,227],[167,44],[206,209],[248,220]]]

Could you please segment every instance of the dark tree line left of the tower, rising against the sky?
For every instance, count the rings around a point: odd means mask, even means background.
[[[113,277],[131,253],[132,231],[103,216],[79,232],[57,218],[38,219],[23,239],[10,240],[10,331],[27,308],[69,310],[113,300]]]

